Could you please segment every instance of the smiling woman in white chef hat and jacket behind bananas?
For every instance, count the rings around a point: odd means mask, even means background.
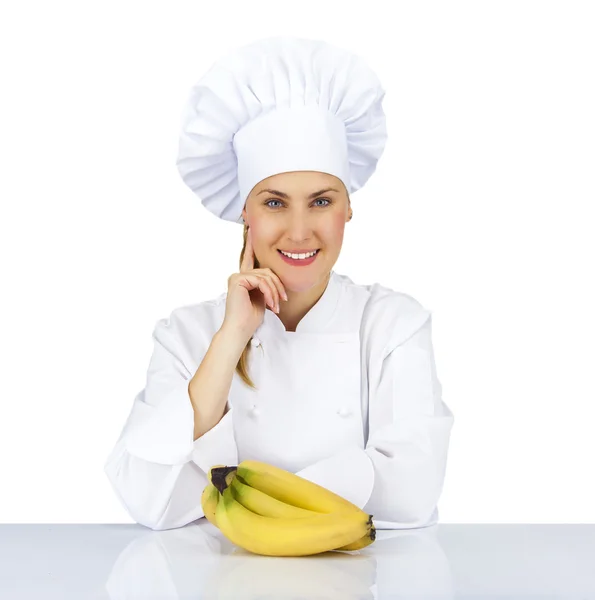
[[[281,36],[192,88],[177,167],[207,210],[243,223],[244,245],[226,293],[155,326],[146,386],[105,464],[136,522],[204,517],[209,469],[245,459],[340,494],[377,529],[438,522],[454,417],[431,311],[333,270],[350,194],[384,150],[383,97],[363,59]]]

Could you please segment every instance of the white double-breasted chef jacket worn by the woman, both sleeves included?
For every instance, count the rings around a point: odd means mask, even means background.
[[[153,530],[204,517],[209,469],[252,459],[347,498],[377,529],[437,523],[454,416],[436,375],[431,311],[331,271],[294,332],[264,311],[248,355],[257,389],[234,371],[227,412],[194,440],[188,384],[226,297],[157,321],[146,385],[104,467],[129,515]]]

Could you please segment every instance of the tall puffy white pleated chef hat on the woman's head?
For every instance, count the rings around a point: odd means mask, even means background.
[[[386,144],[385,91],[360,57],[274,36],[217,61],[183,111],[177,168],[214,215],[243,223],[254,186],[288,171],[339,178],[349,194]]]

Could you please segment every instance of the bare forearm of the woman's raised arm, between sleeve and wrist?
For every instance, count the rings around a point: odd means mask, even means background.
[[[194,409],[194,440],[215,427],[225,414],[235,368],[248,343],[245,336],[222,327],[211,340],[188,384]]]

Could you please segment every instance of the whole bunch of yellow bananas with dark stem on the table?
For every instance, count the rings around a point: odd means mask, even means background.
[[[290,471],[255,460],[215,465],[202,494],[205,517],[234,544],[268,556],[359,550],[376,539],[369,515]]]

